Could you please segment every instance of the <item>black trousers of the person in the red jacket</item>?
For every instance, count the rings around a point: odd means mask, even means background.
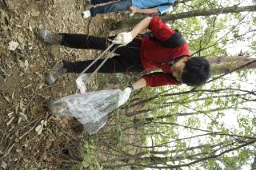
[[[76,49],[101,49],[104,50],[110,45],[109,38],[98,38],[90,35],[84,34],[62,34],[62,45],[76,48]],[[136,72],[141,73],[143,67],[141,64],[140,52],[141,52],[141,39],[134,38],[133,42],[130,42],[126,46],[119,47],[114,53],[114,57],[109,58],[101,69],[98,70],[99,73],[128,73]],[[114,47],[112,48],[114,49]],[[110,49],[110,50],[112,50]],[[92,73],[98,65],[102,63],[104,59],[99,59],[86,71],[86,73]],[[81,73],[90,63],[94,60],[88,61],[76,61],[69,62],[63,61],[64,67],[67,69],[68,73]]]

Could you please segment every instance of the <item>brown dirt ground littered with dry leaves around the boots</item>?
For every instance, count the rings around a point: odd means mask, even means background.
[[[43,75],[56,61],[78,61],[99,51],[38,41],[37,29],[106,36],[109,18],[83,19],[82,0],[0,1],[0,169],[70,169],[81,159],[85,136],[77,121],[50,116],[46,103],[78,93],[74,74],[47,86]],[[12,43],[18,45],[10,50]],[[91,89],[97,89],[97,78]],[[42,128],[38,135],[35,129]],[[71,152],[72,151],[72,152]]]

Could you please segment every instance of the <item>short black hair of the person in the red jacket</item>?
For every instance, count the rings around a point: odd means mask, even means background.
[[[209,62],[203,57],[191,57],[186,61],[182,82],[190,86],[204,85],[210,76]]]

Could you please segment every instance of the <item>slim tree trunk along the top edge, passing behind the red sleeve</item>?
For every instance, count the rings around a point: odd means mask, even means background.
[[[226,8],[218,8],[214,10],[192,10],[189,12],[179,13],[179,14],[168,14],[166,16],[162,16],[162,20],[164,22],[172,21],[183,18],[191,18],[191,17],[198,17],[198,16],[210,16],[214,14],[228,14],[228,13],[241,13],[246,11],[256,11],[256,6],[230,6]],[[117,22],[111,30],[120,30],[125,29],[134,26],[139,21],[141,21],[142,18],[137,19],[124,19],[121,22]]]

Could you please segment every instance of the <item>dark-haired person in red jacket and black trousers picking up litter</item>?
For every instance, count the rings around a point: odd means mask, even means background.
[[[154,38],[143,37],[139,34],[146,29],[151,31]],[[108,59],[98,70],[99,73],[142,73],[162,69],[162,72],[146,74],[130,85],[129,93],[145,86],[156,87],[182,83],[190,86],[203,85],[211,74],[210,64],[205,58],[190,56],[189,45],[184,38],[181,45],[168,47],[168,43],[171,46],[174,40],[182,36],[157,17],[146,17],[134,26],[133,30],[118,34],[116,37],[98,38],[85,34],[54,34],[43,29],[38,30],[38,36],[50,45],[64,45],[78,49],[104,50],[111,43],[120,45],[114,52],[118,55]],[[81,73],[92,61],[62,61],[46,74],[46,83],[53,84],[64,73]],[[97,61],[86,73],[92,73],[101,62],[102,60]]]

